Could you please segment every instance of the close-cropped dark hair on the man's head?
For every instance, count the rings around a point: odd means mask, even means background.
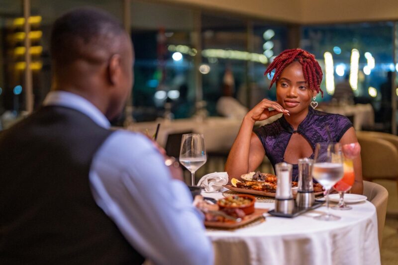
[[[106,12],[95,8],[70,11],[55,21],[51,32],[55,73],[75,60],[101,64],[118,52],[125,38],[123,26]]]

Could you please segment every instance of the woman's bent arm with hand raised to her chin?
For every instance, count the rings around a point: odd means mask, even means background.
[[[274,110],[269,110],[269,107],[274,108]],[[263,99],[246,114],[225,164],[225,171],[228,173],[229,180],[232,177],[239,177],[253,171],[261,164],[265,150],[260,139],[253,133],[254,123],[281,112],[288,113],[289,111],[282,108],[277,102]]]

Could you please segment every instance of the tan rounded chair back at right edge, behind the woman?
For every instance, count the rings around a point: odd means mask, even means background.
[[[357,137],[361,145],[363,178],[396,180],[398,188],[398,148],[393,144],[394,137],[375,132],[357,132]]]

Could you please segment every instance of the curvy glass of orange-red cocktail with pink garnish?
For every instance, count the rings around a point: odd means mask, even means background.
[[[344,202],[344,193],[350,190],[355,181],[354,163],[353,159],[361,152],[361,146],[358,142],[352,144],[345,144],[342,146],[344,154],[344,175],[333,187],[340,194],[339,203],[332,207],[335,210],[351,210],[352,207],[347,206]]]

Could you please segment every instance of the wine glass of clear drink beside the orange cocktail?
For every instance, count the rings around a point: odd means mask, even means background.
[[[339,143],[317,143],[312,176],[326,189],[325,214],[314,217],[318,220],[334,221],[341,217],[330,214],[329,192],[337,181],[343,177],[343,154]]]

